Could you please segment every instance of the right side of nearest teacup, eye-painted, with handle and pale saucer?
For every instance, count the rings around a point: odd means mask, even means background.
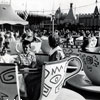
[[[38,62],[42,63],[42,82],[39,100],[84,100],[84,98],[69,89],[62,88],[66,81],[80,72],[82,67],[81,59],[78,56],[70,56],[60,61],[48,61],[48,55],[36,54]],[[43,59],[42,59],[43,57]],[[76,62],[77,69],[72,73],[67,73],[68,64]],[[22,74],[39,74],[37,69],[21,71]],[[71,96],[73,94],[73,96]]]

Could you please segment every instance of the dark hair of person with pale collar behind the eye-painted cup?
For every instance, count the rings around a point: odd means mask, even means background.
[[[56,34],[50,35],[48,38],[48,41],[49,41],[50,47],[52,47],[52,48],[55,48],[60,44],[60,38]]]

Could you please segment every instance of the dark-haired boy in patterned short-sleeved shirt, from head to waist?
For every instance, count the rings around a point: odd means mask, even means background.
[[[34,52],[30,51],[31,42],[24,40],[22,42],[23,52],[18,54],[16,63],[20,65],[20,68],[34,68],[36,65],[36,56]]]

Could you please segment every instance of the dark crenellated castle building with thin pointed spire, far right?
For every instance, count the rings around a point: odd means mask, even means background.
[[[96,1],[97,3],[97,1]],[[79,29],[84,30],[98,30],[100,27],[100,13],[96,5],[94,12],[91,14],[78,15]]]

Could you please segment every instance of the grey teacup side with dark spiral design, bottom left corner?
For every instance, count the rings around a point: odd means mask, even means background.
[[[21,100],[18,67],[12,63],[0,63],[0,99]]]

